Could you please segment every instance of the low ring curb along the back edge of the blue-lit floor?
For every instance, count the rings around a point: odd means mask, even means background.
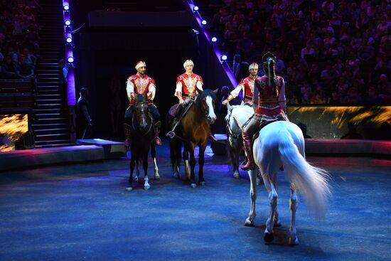
[[[215,136],[218,142],[212,142],[211,150],[208,150],[211,152],[210,156],[225,154],[225,135],[216,134]],[[77,140],[77,143],[79,145],[70,147],[1,152],[0,171],[127,157],[123,142],[84,139]],[[167,139],[163,139],[163,147],[169,150]],[[306,156],[369,156],[391,159],[391,142],[359,139],[306,139]]]

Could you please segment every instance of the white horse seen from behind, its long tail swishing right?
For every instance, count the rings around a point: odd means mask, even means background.
[[[237,121],[247,110],[237,112]],[[235,116],[234,116],[235,117]],[[243,120],[243,119],[242,119]],[[259,166],[264,181],[264,186],[269,193],[270,213],[264,230],[264,240],[272,242],[274,239],[273,227],[278,220],[277,213],[277,171],[284,166],[284,173],[291,183],[291,226],[289,228],[289,244],[297,245],[299,240],[296,235],[296,208],[297,191],[300,191],[311,211],[315,211],[321,217],[326,209],[328,198],[331,196],[328,184],[328,173],[320,168],[311,166],[304,154],[304,137],[301,129],[296,124],[286,121],[278,121],[267,124],[259,132],[255,139],[254,147],[255,164]],[[250,175],[250,213],[245,220],[245,225],[254,225],[255,201],[257,199],[256,171],[249,171]]]

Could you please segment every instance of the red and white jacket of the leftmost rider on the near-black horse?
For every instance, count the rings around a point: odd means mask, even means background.
[[[127,92],[128,96],[130,92],[130,105],[134,105],[136,95],[139,94],[146,97],[148,105],[152,105],[154,104],[153,100],[156,92],[155,80],[147,75],[144,75],[143,78],[138,74],[129,76],[127,80]]]

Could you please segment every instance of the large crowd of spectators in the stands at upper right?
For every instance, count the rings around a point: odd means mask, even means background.
[[[270,50],[290,105],[391,103],[388,1],[210,0],[208,6],[209,29],[233,58],[237,80]]]

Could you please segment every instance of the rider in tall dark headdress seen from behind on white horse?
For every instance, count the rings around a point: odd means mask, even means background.
[[[243,129],[242,137],[247,156],[247,164],[242,170],[255,169],[252,156],[252,136],[262,127],[276,120],[288,120],[286,117],[285,83],[284,78],[275,75],[274,66],[277,58],[270,52],[262,57],[265,75],[255,80],[254,111],[249,124]]]

